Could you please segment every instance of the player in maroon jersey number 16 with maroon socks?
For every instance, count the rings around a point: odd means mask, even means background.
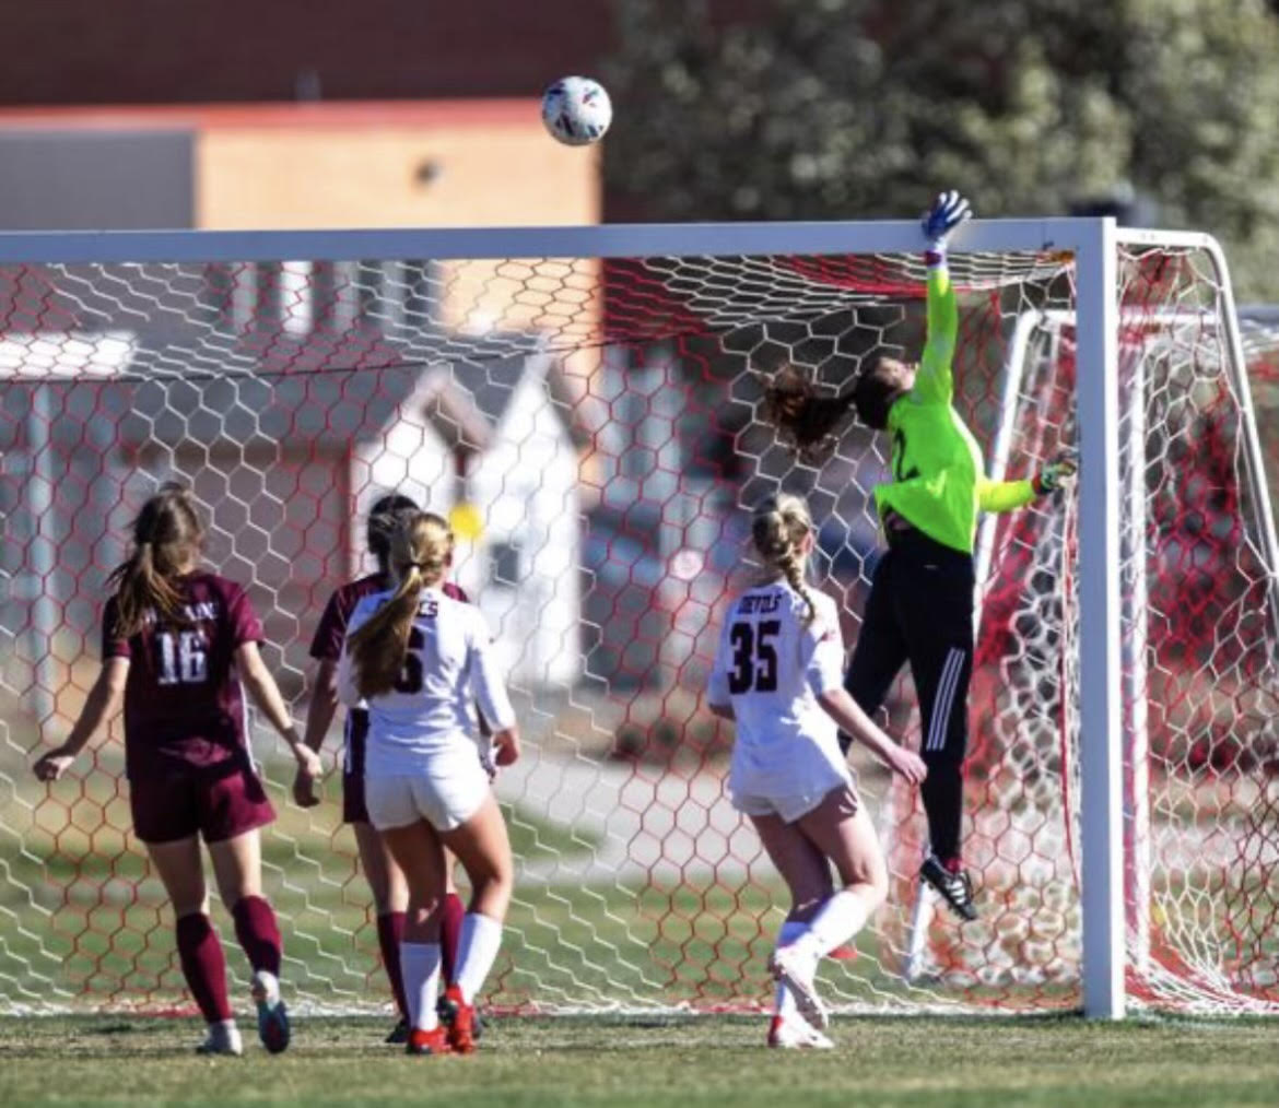
[[[200,567],[203,528],[189,493],[166,484],[133,524],[134,550],[110,578],[102,668],[67,740],[35,773],[56,781],[124,702],[133,828],[177,919],[182,971],[208,1024],[202,1053],[239,1054],[221,942],[208,918],[203,838],[223,904],[253,969],[258,1035],[289,1044],[280,999],[280,930],[262,896],[258,828],[275,819],[249,751],[243,681],[284,737],[299,773],[321,773],[262,662],[262,625],[244,589]]]

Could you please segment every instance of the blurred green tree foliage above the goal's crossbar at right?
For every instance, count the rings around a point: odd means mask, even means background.
[[[1063,215],[1132,190],[1279,299],[1279,18],[1261,0],[616,0],[610,190],[648,219]]]

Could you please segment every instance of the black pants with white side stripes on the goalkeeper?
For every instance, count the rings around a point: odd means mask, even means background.
[[[875,567],[844,688],[867,714],[884,703],[906,662],[920,698],[921,786],[932,852],[959,858],[968,682],[973,649],[972,555],[909,529],[893,537]]]

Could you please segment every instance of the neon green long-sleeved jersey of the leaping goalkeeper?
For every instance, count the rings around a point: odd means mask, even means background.
[[[1030,481],[987,481],[981,447],[950,406],[959,309],[945,263],[929,268],[929,321],[914,387],[888,413],[894,481],[875,489],[880,519],[891,510],[929,538],[972,553],[978,511],[1012,511],[1035,498]]]

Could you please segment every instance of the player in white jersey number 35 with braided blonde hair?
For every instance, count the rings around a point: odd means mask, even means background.
[[[813,988],[817,964],[857,934],[888,895],[884,855],[839,749],[839,728],[913,785],[927,771],[843,688],[835,602],[804,584],[813,548],[807,505],[770,496],[751,533],[765,579],[728,608],[707,700],[737,723],[733,805],[751,818],[790,891],[770,960],[778,994],[769,1045],[829,1048],[826,1008]]]

